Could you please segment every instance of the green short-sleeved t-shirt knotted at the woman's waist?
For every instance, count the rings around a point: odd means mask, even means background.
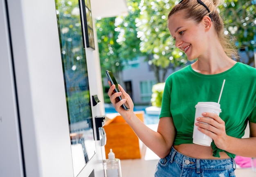
[[[205,75],[195,72],[191,65],[174,72],[166,79],[162,99],[161,117],[172,117],[176,128],[174,145],[193,143],[195,105],[200,101],[218,102],[225,121],[226,133],[241,138],[248,120],[256,123],[256,69],[243,63],[236,63],[220,74]],[[220,157],[224,151],[211,143],[213,156]],[[226,152],[229,157],[236,155]]]

